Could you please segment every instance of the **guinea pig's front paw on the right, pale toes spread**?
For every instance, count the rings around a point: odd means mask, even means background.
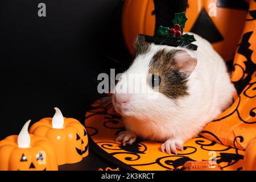
[[[170,138],[162,144],[161,150],[167,154],[171,154],[171,152],[177,154],[177,150],[183,150],[183,140]]]

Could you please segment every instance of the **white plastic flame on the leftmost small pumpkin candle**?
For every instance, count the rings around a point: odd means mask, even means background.
[[[25,125],[20,130],[18,135],[18,146],[19,148],[28,148],[30,147],[30,134],[28,134],[28,126],[30,125],[31,120],[28,120]]]

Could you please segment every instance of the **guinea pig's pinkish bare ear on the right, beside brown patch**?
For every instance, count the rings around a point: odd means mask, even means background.
[[[196,68],[197,59],[191,57],[186,50],[179,50],[174,55],[175,66],[180,72],[189,76]]]

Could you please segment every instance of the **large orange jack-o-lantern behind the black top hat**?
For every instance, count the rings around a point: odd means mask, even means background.
[[[223,0],[188,0],[188,20],[184,31],[203,36],[212,43],[224,60],[232,60],[248,7],[246,1],[227,3]],[[137,34],[154,34],[154,1],[126,0],[123,6],[122,29],[126,45],[133,53]]]

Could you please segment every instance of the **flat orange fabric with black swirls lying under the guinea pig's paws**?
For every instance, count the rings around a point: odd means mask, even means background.
[[[180,169],[184,163],[193,160],[216,159],[224,170],[238,170],[242,168],[244,151],[223,146],[203,137],[197,137],[184,144],[184,151],[166,154],[160,150],[162,143],[138,139],[133,144],[115,142],[120,131],[125,128],[120,115],[113,109],[108,109],[100,102],[92,105],[86,112],[85,126],[93,143],[90,149],[104,156],[105,159],[114,158],[123,165],[138,170],[171,170]],[[117,164],[118,165],[118,164]],[[118,166],[123,168],[122,166]]]

